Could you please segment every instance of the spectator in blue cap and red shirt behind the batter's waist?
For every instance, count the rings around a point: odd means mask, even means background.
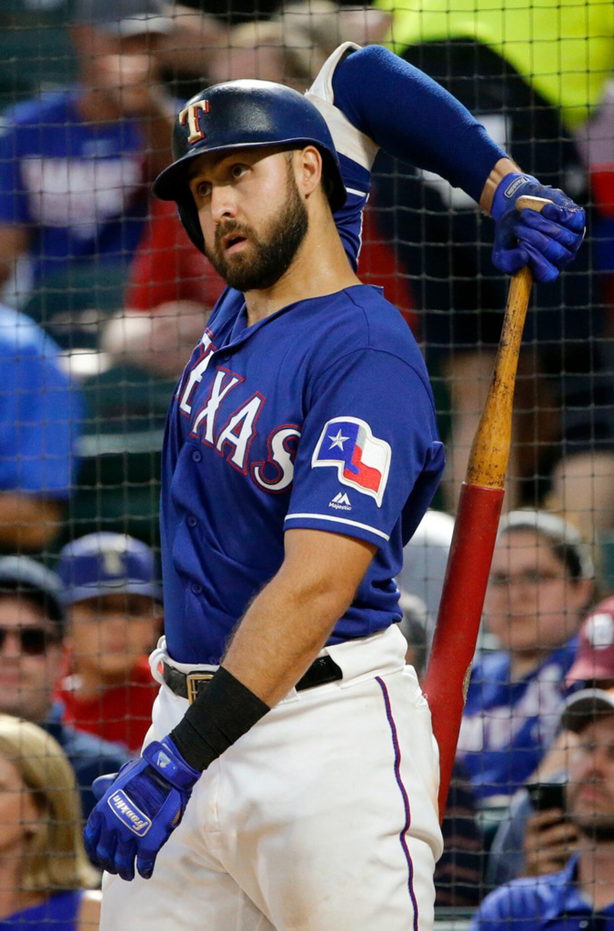
[[[157,693],[147,654],[162,628],[153,553],[124,533],[89,533],[64,546],[57,569],[72,654],[66,720],[138,753]]]

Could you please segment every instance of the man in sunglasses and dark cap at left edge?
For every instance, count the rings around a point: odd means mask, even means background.
[[[66,668],[59,577],[26,556],[0,559],[0,712],[40,724],[75,770],[84,817],[95,804],[91,784],[116,771],[126,751],[61,721],[53,700]]]

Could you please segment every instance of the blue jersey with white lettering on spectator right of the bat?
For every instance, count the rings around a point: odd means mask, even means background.
[[[553,742],[574,662],[574,637],[524,679],[512,681],[510,654],[484,654],[471,672],[458,755],[480,799],[512,795]]]

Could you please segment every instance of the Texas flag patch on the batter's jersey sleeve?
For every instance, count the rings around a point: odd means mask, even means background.
[[[375,498],[382,505],[392,451],[371,427],[357,417],[334,417],[321,432],[311,466],[336,466],[344,485]]]

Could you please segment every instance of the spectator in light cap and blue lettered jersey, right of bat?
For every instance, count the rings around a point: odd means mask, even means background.
[[[590,552],[565,520],[535,510],[501,520],[485,600],[501,649],[473,667],[458,740],[484,804],[507,801],[553,742],[593,576]]]

